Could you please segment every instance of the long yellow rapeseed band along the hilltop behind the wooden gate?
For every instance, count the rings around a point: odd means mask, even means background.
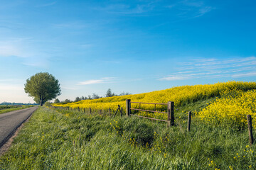
[[[92,111],[108,110],[109,108],[111,108],[112,110],[116,110],[118,105],[120,105],[122,108],[125,108],[126,99],[145,103],[167,103],[168,101],[174,101],[175,106],[182,106],[186,103],[199,101],[201,99],[221,96],[221,94],[223,94],[223,91],[248,91],[251,89],[256,89],[255,82],[228,81],[217,84],[177,86],[171,89],[152,91],[144,94],[114,96],[94,100],[78,101],[75,103],[57,103],[53,106],[63,106],[70,108],[79,107],[80,109],[92,108]],[[147,110],[154,110],[154,107],[154,105],[142,104],[142,108]],[[139,108],[139,104],[132,103],[132,108]],[[165,111],[166,106],[156,105],[156,109],[158,111]],[[202,115],[202,113],[200,114]]]

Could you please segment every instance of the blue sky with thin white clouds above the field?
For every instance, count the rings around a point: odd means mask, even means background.
[[[33,102],[49,72],[60,100],[107,89],[255,81],[255,1],[1,0],[0,102]]]

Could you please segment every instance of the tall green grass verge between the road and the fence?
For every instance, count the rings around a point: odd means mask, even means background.
[[[247,130],[193,118],[186,132],[186,112],[207,102],[178,108],[171,128],[142,118],[41,107],[0,157],[0,169],[256,169]]]

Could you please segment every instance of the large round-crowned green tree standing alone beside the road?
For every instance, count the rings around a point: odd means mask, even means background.
[[[55,79],[48,72],[40,72],[26,80],[25,92],[28,96],[32,96],[36,103],[43,103],[56,98],[60,95],[60,84],[58,79]]]

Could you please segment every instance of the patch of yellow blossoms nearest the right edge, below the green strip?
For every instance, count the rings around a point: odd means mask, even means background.
[[[198,116],[215,125],[245,127],[246,115],[250,114],[252,118],[256,118],[256,90],[238,91],[235,95],[217,98],[199,111]],[[252,126],[256,127],[256,122],[252,121],[252,123]]]

